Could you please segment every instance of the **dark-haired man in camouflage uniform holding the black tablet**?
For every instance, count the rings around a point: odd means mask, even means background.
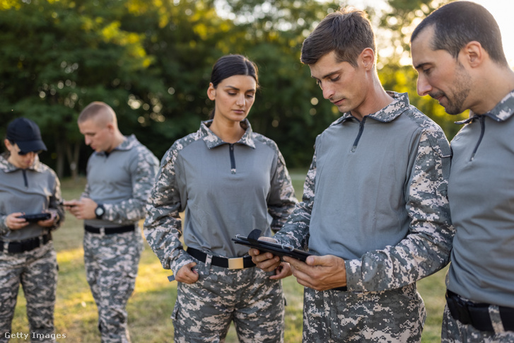
[[[448,264],[453,234],[448,141],[407,93],[380,85],[366,13],[329,14],[301,59],[343,113],[317,136],[303,201],[274,236],[315,255],[284,257],[305,286],[303,342],[420,342],[416,280]],[[264,270],[279,261],[250,255]]]

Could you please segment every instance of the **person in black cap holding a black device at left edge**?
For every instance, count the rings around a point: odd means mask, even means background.
[[[4,144],[7,151],[0,155],[0,342],[11,335],[20,284],[32,341],[54,342],[57,260],[50,231],[64,218],[59,179],[39,161],[38,153],[47,147],[32,120],[13,120]],[[47,217],[30,219],[36,214]]]

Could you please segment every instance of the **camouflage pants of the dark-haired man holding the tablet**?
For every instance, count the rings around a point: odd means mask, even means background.
[[[421,342],[426,319],[416,284],[391,291],[303,293],[303,342]]]

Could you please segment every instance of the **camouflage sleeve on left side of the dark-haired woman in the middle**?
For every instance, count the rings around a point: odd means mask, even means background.
[[[156,253],[163,268],[171,269],[173,274],[177,274],[185,264],[194,262],[180,242],[182,221],[179,213],[185,208],[182,199],[187,198],[185,190],[181,191],[178,182],[183,176],[177,162],[180,149],[180,144],[175,142],[160,163],[156,183],[146,206],[144,222],[144,235],[148,245]]]

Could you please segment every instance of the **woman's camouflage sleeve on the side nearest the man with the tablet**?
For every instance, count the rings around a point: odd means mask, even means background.
[[[286,168],[284,156],[278,151],[276,168],[271,178],[271,190],[268,198],[268,211],[273,217],[271,230],[279,231],[286,219],[293,212],[298,200],[295,196],[293,182]]]

